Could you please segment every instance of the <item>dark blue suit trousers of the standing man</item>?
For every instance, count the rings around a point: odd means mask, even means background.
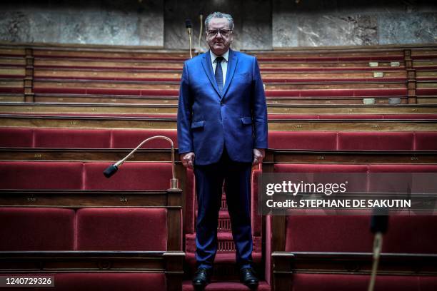
[[[226,148],[218,163],[195,165],[197,193],[196,260],[198,267],[211,268],[217,252],[218,211],[224,188],[231,217],[236,263],[251,267],[251,163],[231,160]]]

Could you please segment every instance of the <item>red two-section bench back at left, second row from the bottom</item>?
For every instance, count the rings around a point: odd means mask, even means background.
[[[165,208],[0,208],[0,250],[167,249]]]

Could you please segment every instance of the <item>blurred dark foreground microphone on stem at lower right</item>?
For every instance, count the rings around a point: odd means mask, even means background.
[[[379,256],[381,255],[383,234],[388,228],[388,209],[374,208],[371,218],[371,232],[375,235],[373,238],[373,265],[371,280],[368,284],[368,291],[373,291],[375,287],[376,271],[378,270]]]

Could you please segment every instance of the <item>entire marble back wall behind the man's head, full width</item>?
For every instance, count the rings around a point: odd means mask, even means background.
[[[437,44],[431,0],[16,0],[0,3],[0,41],[188,48],[199,14],[230,13],[233,48]]]

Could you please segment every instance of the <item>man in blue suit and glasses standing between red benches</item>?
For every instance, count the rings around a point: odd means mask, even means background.
[[[211,279],[225,180],[241,282],[256,287],[250,178],[267,148],[266,97],[256,58],[229,49],[232,17],[214,12],[205,27],[210,51],[184,63],[178,108],[179,153],[184,166],[194,168],[198,199],[193,285],[202,290]]]

